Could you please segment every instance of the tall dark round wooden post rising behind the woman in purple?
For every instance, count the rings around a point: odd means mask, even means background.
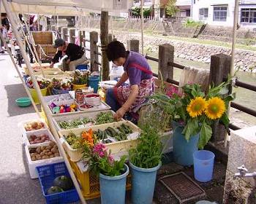
[[[109,61],[107,56],[108,46],[108,12],[102,11],[100,15],[100,44],[102,47],[102,80],[109,79]]]

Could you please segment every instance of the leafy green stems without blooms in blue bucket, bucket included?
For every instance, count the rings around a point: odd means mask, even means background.
[[[138,145],[129,150],[132,203],[152,203],[161,158],[162,144],[159,139],[159,131],[146,125],[138,138]]]

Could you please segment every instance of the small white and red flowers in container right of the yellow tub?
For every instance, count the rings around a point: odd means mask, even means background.
[[[69,93],[72,82],[70,79],[55,79],[53,78],[53,94]]]

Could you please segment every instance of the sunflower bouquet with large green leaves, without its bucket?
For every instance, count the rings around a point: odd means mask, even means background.
[[[152,98],[176,125],[183,127],[182,134],[187,141],[199,133],[197,146],[203,149],[211,138],[214,122],[221,122],[229,133],[227,109],[229,102],[235,98],[235,94],[228,95],[230,82],[229,79],[218,86],[210,86],[207,93],[201,90],[200,85],[189,84],[182,87],[182,95],[173,94],[170,98],[156,93]]]

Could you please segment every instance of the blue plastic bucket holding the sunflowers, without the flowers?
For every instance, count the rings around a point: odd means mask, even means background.
[[[190,136],[189,141],[182,134],[183,126],[179,126],[177,122],[173,124],[173,159],[179,165],[193,165],[193,154],[198,150],[197,144],[199,133],[196,136]]]

